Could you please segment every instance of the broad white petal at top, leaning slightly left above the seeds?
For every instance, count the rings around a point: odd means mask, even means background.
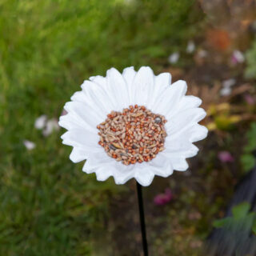
[[[112,99],[115,102],[114,110],[122,110],[129,106],[129,91],[127,85],[118,70],[111,68],[106,72],[107,90],[110,92]]]

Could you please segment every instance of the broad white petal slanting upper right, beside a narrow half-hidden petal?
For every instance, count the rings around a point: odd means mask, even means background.
[[[178,108],[181,98],[186,94],[186,88],[186,82],[182,80],[167,86],[166,90],[163,90],[162,94],[158,96],[152,110],[155,113],[164,114],[166,117],[172,114],[175,108]]]

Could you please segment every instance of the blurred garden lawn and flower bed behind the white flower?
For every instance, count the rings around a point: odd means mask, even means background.
[[[150,255],[206,255],[255,165],[255,2],[0,0],[0,32],[0,255],[142,255],[134,180],[82,173],[57,124],[112,66],[170,72],[203,100],[210,133],[190,170],[143,192]]]

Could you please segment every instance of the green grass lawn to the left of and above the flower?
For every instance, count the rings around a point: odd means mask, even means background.
[[[0,0],[1,255],[92,254],[121,186],[83,174],[63,130],[45,138],[34,121],[58,118],[84,79],[111,66],[161,70],[201,18],[190,0]]]

